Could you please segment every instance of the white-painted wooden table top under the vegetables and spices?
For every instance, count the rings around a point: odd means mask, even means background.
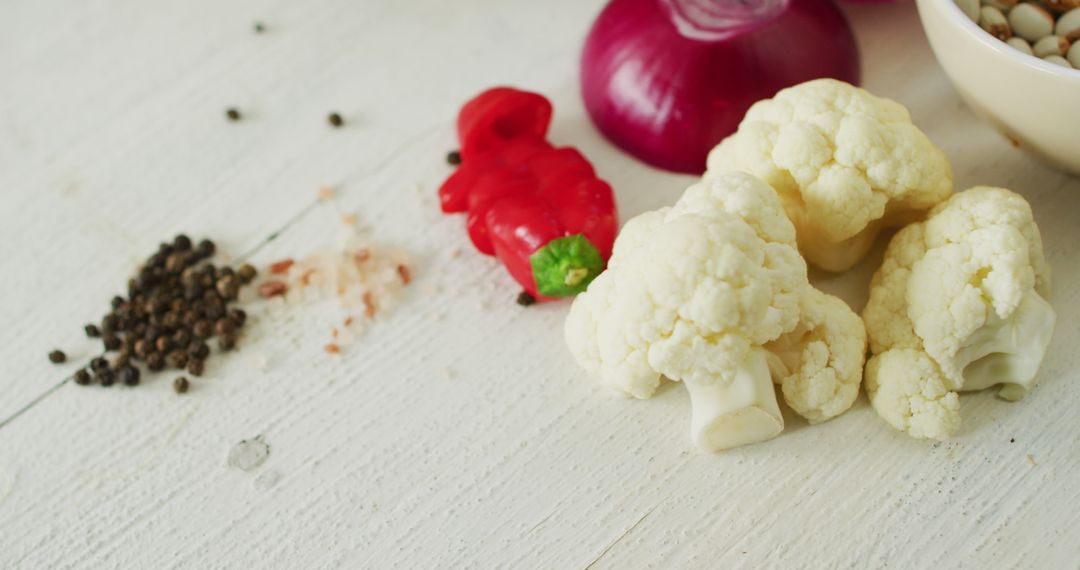
[[[594,161],[623,219],[690,180],[588,122],[577,58],[599,9],[3,2],[0,568],[1078,568],[1080,180],[963,107],[912,4],[846,8],[864,84],[910,108],[958,188],[1031,201],[1059,324],[1027,399],[964,396],[949,443],[909,439],[861,398],[703,454],[683,390],[606,398],[563,345],[566,303],[512,302],[434,200],[462,100],[492,84],[548,94],[552,138]],[[243,121],[225,120],[231,106]],[[327,126],[334,110],[345,128]],[[337,201],[318,203],[323,185]],[[405,302],[345,353],[323,352],[307,311],[255,304],[240,353],[187,395],[166,375],[53,390],[75,365],[45,354],[93,355],[82,324],[158,241],[207,235],[265,263],[329,241],[341,212],[417,258]],[[861,308],[872,269],[824,286]],[[269,460],[227,467],[256,435]]]

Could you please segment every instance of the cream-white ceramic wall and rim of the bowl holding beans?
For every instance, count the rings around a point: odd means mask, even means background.
[[[917,0],[937,62],[968,105],[1013,144],[1080,174],[1080,69],[1021,53],[953,0]]]

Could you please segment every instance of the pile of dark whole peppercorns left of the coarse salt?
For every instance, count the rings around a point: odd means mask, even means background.
[[[100,324],[86,325],[86,336],[100,338],[106,355],[91,361],[89,369],[79,369],[76,383],[137,385],[138,364],[154,372],[170,367],[202,376],[212,338],[222,351],[235,348],[247,315],[229,303],[256,271],[247,263],[233,271],[206,261],[214,250],[214,242],[195,245],[184,234],[161,244],[127,282],[127,296],[113,297],[112,310]],[[116,354],[107,357],[109,353]],[[53,351],[49,359],[58,363],[65,356]],[[181,376],[173,385],[186,392],[188,380]]]

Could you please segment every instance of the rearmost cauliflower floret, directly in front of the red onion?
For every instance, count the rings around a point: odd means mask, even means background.
[[[708,154],[705,176],[735,171],[777,190],[802,254],[827,271],[851,268],[882,229],[953,192],[948,160],[902,105],[833,79],[754,104]]]

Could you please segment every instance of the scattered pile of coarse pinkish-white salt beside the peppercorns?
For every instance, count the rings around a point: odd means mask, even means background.
[[[287,306],[323,299],[340,303],[340,321],[330,329],[330,340],[324,347],[332,354],[352,343],[377,316],[396,307],[405,286],[413,281],[407,255],[370,242],[351,225],[336,246],[300,260],[276,261],[266,273],[268,279],[259,285],[262,297],[283,299],[279,302]]]

